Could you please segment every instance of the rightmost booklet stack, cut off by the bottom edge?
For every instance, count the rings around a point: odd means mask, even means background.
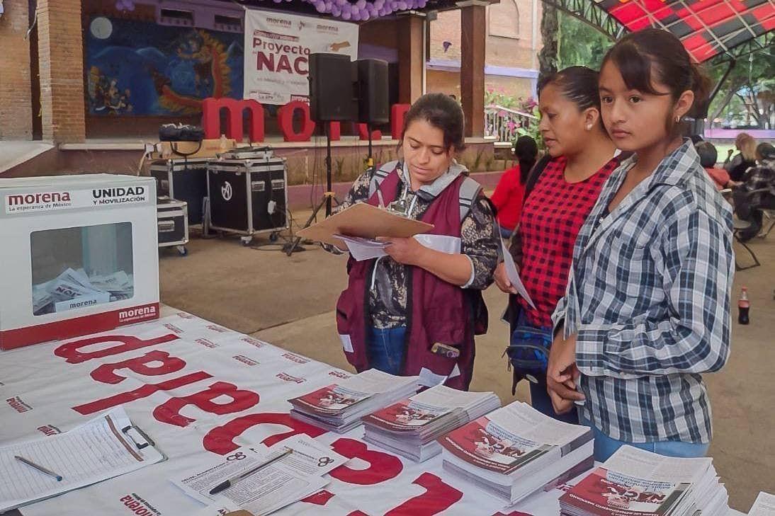
[[[560,497],[562,516],[725,516],[713,459],[677,459],[624,445]]]

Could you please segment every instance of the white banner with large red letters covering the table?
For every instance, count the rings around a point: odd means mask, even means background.
[[[123,404],[169,460],[22,509],[25,516],[182,516],[202,508],[169,481],[208,454],[304,433],[349,463],[325,490],[278,512],[433,516],[559,514],[563,490],[518,507],[448,476],[440,456],[417,464],[346,435],[294,421],[288,398],[348,373],[180,313],[80,339],[0,353],[0,442],[64,432]],[[567,486],[563,486],[567,488]]]

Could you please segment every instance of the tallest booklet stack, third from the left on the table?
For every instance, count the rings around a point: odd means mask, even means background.
[[[594,466],[587,426],[570,425],[515,401],[439,439],[443,468],[515,504]]]

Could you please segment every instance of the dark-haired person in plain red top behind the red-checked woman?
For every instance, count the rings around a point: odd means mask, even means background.
[[[530,136],[520,136],[514,144],[514,155],[518,165],[506,170],[498,181],[498,186],[490,200],[498,210],[496,218],[501,238],[511,238],[514,228],[522,215],[522,200],[525,195],[525,182],[538,157],[538,145]]]

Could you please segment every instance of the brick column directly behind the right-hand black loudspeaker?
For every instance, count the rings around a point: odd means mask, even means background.
[[[412,104],[422,95],[425,44],[422,41],[425,15],[398,16],[398,101]]]

